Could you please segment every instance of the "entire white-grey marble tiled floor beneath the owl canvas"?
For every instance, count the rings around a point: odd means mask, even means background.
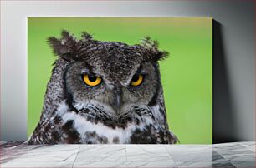
[[[0,142],[0,167],[255,167],[255,142],[214,145],[54,145]]]

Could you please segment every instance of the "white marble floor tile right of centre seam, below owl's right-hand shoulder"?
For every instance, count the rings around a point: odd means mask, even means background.
[[[169,161],[173,162],[164,145],[125,145],[127,161]]]

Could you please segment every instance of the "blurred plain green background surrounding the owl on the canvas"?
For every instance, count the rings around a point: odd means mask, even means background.
[[[157,40],[170,52],[160,62],[170,129],[182,144],[212,143],[212,17],[28,17],[28,137],[56,59],[46,39],[63,29],[131,45]]]

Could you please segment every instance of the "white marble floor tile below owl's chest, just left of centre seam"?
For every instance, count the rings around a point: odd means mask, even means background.
[[[125,145],[81,145],[75,161],[126,161]]]

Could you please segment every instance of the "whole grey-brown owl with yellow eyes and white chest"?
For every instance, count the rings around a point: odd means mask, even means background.
[[[68,31],[49,37],[57,56],[38,126],[28,144],[173,144],[158,61],[150,37],[140,44],[95,40]]]

